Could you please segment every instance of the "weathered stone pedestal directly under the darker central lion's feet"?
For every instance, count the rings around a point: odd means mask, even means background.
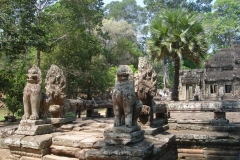
[[[113,127],[110,131],[104,132],[104,141],[109,145],[126,145],[137,143],[144,139],[144,131],[139,126],[131,128],[120,126]]]

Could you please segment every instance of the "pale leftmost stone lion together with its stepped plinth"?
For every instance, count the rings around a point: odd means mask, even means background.
[[[46,119],[51,100],[42,93],[41,83],[41,70],[33,65],[28,70],[27,84],[23,91],[24,115],[15,134],[40,135],[55,130],[54,126],[48,124],[49,121]]]

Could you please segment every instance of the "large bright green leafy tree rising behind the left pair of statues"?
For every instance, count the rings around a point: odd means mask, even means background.
[[[95,82],[103,77],[99,75],[103,70],[96,70],[97,64],[104,60],[99,38],[102,36],[102,5],[102,0],[61,0],[45,9],[42,20],[51,26],[48,36],[53,39],[55,48],[51,57],[44,55],[44,69],[52,63],[64,69],[69,96],[76,96],[81,88],[90,99],[94,88],[102,90],[96,88]],[[49,16],[51,21],[47,18]]]

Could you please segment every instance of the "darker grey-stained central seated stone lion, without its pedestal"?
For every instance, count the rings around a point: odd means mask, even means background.
[[[114,126],[137,125],[142,102],[135,97],[133,72],[128,65],[118,67],[112,99],[115,115]]]

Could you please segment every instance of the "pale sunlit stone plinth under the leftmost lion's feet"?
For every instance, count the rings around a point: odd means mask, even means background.
[[[41,135],[52,133],[56,128],[49,123],[49,120],[21,120],[15,134],[21,135]]]

